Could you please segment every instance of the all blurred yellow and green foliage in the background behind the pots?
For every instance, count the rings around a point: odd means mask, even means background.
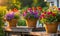
[[[2,27],[4,25],[3,17],[7,13],[7,10],[17,8],[18,10],[23,10],[28,7],[37,7],[41,6],[42,8],[49,7],[47,2],[44,0],[1,0],[0,3],[0,36],[4,36],[4,32],[2,31]],[[18,26],[26,26],[25,20],[19,20]]]

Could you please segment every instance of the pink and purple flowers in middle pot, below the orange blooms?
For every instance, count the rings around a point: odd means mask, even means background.
[[[23,13],[25,18],[39,18],[39,12],[28,8],[26,12]]]

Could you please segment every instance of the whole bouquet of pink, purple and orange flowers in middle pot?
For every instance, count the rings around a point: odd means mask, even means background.
[[[41,9],[40,9],[41,11]],[[26,11],[23,12],[23,17],[25,19],[38,19],[40,12],[37,10],[37,8],[28,8]]]

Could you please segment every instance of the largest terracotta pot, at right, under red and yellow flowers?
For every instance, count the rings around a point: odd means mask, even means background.
[[[45,23],[45,29],[47,33],[56,33],[57,32],[58,23]]]

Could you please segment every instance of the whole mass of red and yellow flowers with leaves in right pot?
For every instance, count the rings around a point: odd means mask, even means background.
[[[40,21],[42,23],[46,23],[46,22],[58,22],[58,19],[60,18],[60,14],[58,13],[58,10],[56,10],[57,8],[49,8],[48,11],[44,11],[43,13],[41,13],[40,15]]]

